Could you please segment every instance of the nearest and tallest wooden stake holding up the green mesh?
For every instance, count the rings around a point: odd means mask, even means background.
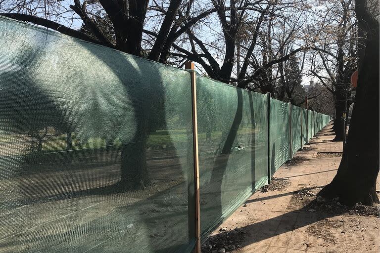
[[[192,108],[192,139],[194,154],[194,186],[195,186],[195,253],[200,252],[200,202],[199,202],[199,160],[198,160],[198,123],[196,117],[196,84],[194,63],[186,62],[185,68],[191,76],[191,108]]]

